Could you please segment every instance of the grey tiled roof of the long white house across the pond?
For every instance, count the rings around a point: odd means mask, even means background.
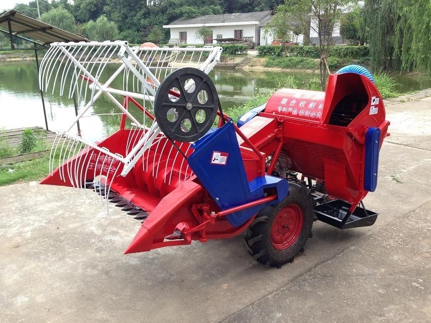
[[[259,11],[248,12],[240,14],[224,14],[224,15],[210,15],[201,16],[193,19],[177,19],[168,26],[175,25],[200,25],[200,24],[217,24],[217,23],[233,23],[233,22],[247,22],[247,21],[263,21],[268,20],[268,16],[272,15],[272,11]],[[265,19],[266,18],[266,19]],[[224,21],[223,21],[224,19]]]

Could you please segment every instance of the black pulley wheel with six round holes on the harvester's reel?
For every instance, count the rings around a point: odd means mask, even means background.
[[[203,71],[182,68],[162,81],[154,99],[154,114],[163,133],[181,142],[195,141],[207,133],[218,109],[214,83]]]

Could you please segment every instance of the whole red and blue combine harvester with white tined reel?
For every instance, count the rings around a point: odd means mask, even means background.
[[[50,164],[42,184],[94,190],[140,220],[125,253],[247,231],[250,254],[281,266],[302,250],[315,220],[340,229],[373,225],[377,213],[362,200],[376,188],[389,122],[372,75],[349,66],[329,76],[326,92],[280,89],[235,125],[207,75],[220,53],[52,44],[41,88],[62,93],[70,83],[69,96],[83,103],[53,145],[52,156],[67,160],[55,170]],[[104,80],[114,54],[122,64]],[[122,90],[112,86],[116,78]],[[120,109],[121,121],[92,143],[73,127],[101,94]]]

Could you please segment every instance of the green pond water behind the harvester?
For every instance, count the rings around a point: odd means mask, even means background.
[[[115,66],[110,67],[112,72]],[[109,73],[109,71],[108,71]],[[274,91],[276,80],[291,72],[246,72],[235,69],[215,69],[210,73],[224,111],[250,100],[258,91]],[[308,80],[309,73],[294,73],[299,81]],[[398,76],[400,92],[431,87],[431,78]],[[121,88],[118,85],[118,88]],[[73,100],[57,93],[45,93],[45,107],[50,130],[64,130],[74,119]],[[104,129],[118,124],[119,116],[109,114],[117,109],[102,96],[91,108],[101,116],[84,118],[81,129],[88,139],[100,137]],[[45,127],[35,61],[0,62],[0,129]]]

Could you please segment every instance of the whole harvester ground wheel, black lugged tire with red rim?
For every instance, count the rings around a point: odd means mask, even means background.
[[[314,204],[308,188],[289,182],[289,195],[261,210],[247,229],[244,240],[250,255],[268,266],[292,262],[312,236]]]

